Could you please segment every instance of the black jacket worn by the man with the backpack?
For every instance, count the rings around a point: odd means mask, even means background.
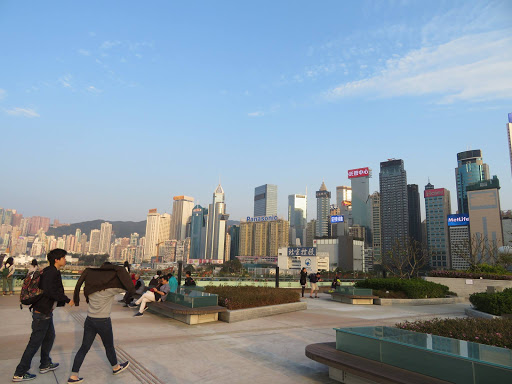
[[[55,302],[57,302],[57,307],[63,307],[66,303],[71,301],[69,297],[64,294],[62,276],[54,265],[43,269],[41,279],[39,280],[39,288],[43,290],[43,294],[41,298],[32,305],[32,309],[46,316],[53,311]]]

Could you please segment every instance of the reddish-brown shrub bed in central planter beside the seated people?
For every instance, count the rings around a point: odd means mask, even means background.
[[[286,288],[209,285],[205,291],[219,295],[219,305],[227,309],[255,308],[300,301],[299,292]]]

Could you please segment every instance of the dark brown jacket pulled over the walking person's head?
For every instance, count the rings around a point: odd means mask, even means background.
[[[89,295],[107,288],[121,288],[131,295],[135,294],[135,287],[126,269],[110,263],[105,263],[99,268],[86,268],[82,272],[73,295],[73,301],[77,307],[80,303],[80,288],[83,283],[85,283],[84,295],[87,302],[89,302]]]

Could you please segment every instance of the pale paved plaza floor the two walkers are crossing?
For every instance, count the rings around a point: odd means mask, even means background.
[[[70,294],[68,293],[68,296]],[[334,383],[326,366],[304,355],[311,343],[335,340],[334,327],[394,325],[433,317],[463,317],[469,303],[426,306],[354,306],[304,299],[308,309],[239,323],[186,325],[115,303],[112,311],[118,359],[131,367],[113,376],[101,341],[96,340],[80,371],[85,383]],[[18,296],[0,296],[2,335],[0,383],[9,383],[30,336],[31,314],[19,308]],[[55,372],[39,374],[39,354],[32,362],[36,384],[64,384],[78,350],[85,300],[80,307],[54,311],[57,338],[52,351]]]

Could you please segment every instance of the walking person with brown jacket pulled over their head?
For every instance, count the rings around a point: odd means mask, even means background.
[[[84,380],[78,377],[78,372],[97,334],[101,337],[114,375],[123,372],[130,365],[129,361],[121,364],[117,362],[112,322],[110,320],[112,302],[115,296],[124,291],[128,291],[131,295],[135,293],[130,275],[123,267],[108,262],[100,268],[87,268],[82,272],[75,287],[73,299],[76,306],[80,304],[80,288],[84,283],[84,295],[89,308],[84,323],[82,345],[76,353],[68,384],[81,383]]]

